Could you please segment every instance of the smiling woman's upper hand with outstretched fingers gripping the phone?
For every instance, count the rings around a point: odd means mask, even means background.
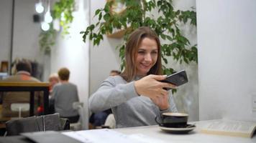
[[[142,79],[135,81],[134,86],[137,94],[143,95],[145,97],[149,97],[150,99],[155,99],[160,96],[168,95],[168,91],[165,88],[175,88],[175,85],[159,82],[164,80],[166,75],[153,75],[150,74],[147,77],[143,77]]]

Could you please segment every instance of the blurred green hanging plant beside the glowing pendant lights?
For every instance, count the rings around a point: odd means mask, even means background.
[[[57,19],[60,21],[60,26],[62,27],[61,34],[63,36],[69,34],[68,29],[73,21],[73,11],[74,11],[75,1],[74,0],[60,0],[55,2],[53,9],[51,11],[53,21]],[[53,29],[53,24],[50,23],[50,29],[47,31],[41,30],[40,32],[40,49],[44,51],[45,54],[50,54],[51,47],[55,45],[57,32]]]

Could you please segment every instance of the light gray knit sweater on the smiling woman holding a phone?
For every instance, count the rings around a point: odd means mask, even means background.
[[[169,109],[160,111],[150,98],[137,94],[134,82],[127,83],[122,77],[115,76],[107,78],[91,95],[88,107],[91,112],[111,108],[116,119],[116,127],[121,128],[157,124],[155,117],[160,117],[161,112],[177,112],[171,94],[169,103]]]

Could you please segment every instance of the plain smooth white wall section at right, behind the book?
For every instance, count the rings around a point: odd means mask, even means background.
[[[256,1],[197,0],[199,119],[255,120]]]

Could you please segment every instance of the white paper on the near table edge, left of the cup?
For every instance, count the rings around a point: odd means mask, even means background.
[[[151,143],[151,142],[159,142],[165,143],[160,139],[155,139],[152,137],[145,136],[144,134],[122,134],[120,132],[113,131],[111,129],[92,129],[85,131],[77,131],[77,132],[63,132],[62,134],[67,135],[68,137],[73,137],[74,139],[78,139],[83,143],[112,143],[112,142],[120,142],[120,143]]]

